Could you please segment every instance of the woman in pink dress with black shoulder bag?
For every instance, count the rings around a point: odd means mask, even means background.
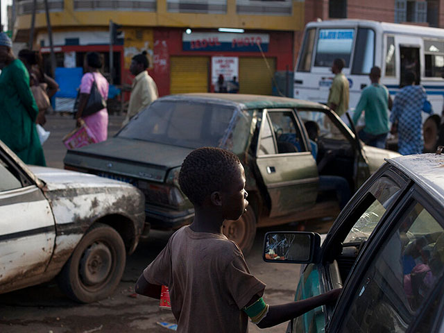
[[[103,108],[99,112],[90,114],[89,116],[82,117],[83,110],[87,105],[89,93],[91,92],[92,83],[95,80],[97,88],[101,93],[103,99],[108,99],[108,89],[110,85],[108,80],[100,74],[99,69],[102,67],[103,62],[101,55],[97,52],[88,52],[85,57],[85,63],[83,67],[86,71],[83,74],[82,82],[80,83],[80,99],[78,101],[78,111],[76,113],[76,119],[83,119],[89,129],[92,131],[97,139],[97,142],[105,141],[108,139],[108,110]],[[80,122],[77,121],[78,126]]]

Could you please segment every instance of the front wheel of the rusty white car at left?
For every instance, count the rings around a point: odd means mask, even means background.
[[[123,275],[125,244],[108,225],[94,224],[76,246],[58,275],[60,289],[77,302],[110,296]]]

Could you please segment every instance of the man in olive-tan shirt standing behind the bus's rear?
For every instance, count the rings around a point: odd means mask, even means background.
[[[348,97],[350,94],[350,85],[342,73],[344,67],[345,61],[343,59],[336,58],[333,60],[332,73],[335,75],[327,99],[327,105],[339,117],[348,110]]]

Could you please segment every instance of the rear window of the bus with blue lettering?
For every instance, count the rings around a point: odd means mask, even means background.
[[[345,67],[350,67],[353,37],[354,29],[320,29],[314,65],[330,67],[334,59],[343,58]]]

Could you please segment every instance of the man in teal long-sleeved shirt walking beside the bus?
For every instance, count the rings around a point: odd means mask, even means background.
[[[357,123],[362,111],[365,110],[366,126],[359,131],[359,139],[369,146],[386,148],[387,134],[390,130],[388,110],[391,109],[391,98],[387,88],[379,84],[380,78],[381,69],[373,67],[370,70],[372,84],[362,91],[353,114],[353,123]]]

